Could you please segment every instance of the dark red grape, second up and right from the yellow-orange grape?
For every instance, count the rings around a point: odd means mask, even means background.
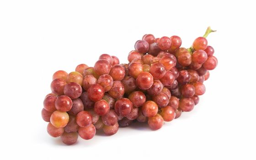
[[[69,96],[71,99],[78,98],[82,94],[82,87],[75,82],[70,82],[69,84],[65,85],[64,94]]]

